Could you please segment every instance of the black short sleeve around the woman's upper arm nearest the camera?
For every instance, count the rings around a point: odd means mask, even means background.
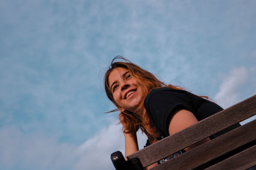
[[[154,89],[144,101],[150,122],[164,138],[169,136],[168,124],[175,111],[185,109],[194,112],[190,103],[189,96],[183,90],[170,88]]]

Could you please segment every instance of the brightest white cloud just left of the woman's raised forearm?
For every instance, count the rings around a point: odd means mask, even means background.
[[[83,156],[77,161],[74,169],[114,169],[110,160],[111,153],[119,150],[124,155],[124,134],[121,129],[122,125],[116,125],[114,122],[79,146],[77,151]],[[145,143],[146,137],[139,131],[139,148],[142,148]]]

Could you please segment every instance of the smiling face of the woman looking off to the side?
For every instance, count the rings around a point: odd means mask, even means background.
[[[109,87],[118,106],[136,112],[145,97],[145,90],[128,69],[117,67],[109,74]]]

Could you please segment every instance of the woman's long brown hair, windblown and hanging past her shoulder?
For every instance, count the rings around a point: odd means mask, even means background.
[[[123,61],[116,61],[118,59],[121,59]],[[128,71],[132,74],[134,78],[142,85],[142,87],[145,89],[145,96],[147,96],[148,92],[152,89],[156,89],[158,87],[170,87],[172,89],[178,89],[178,90],[184,90],[181,87],[173,86],[173,85],[166,85],[163,83],[163,81],[160,81],[154,76],[154,74],[146,71],[145,69],[142,69],[141,67],[137,66],[136,64],[133,64],[131,61],[125,59],[121,56],[116,56],[109,68],[108,71],[106,71],[106,74],[104,76],[104,87],[106,94],[110,101],[112,101],[117,108],[120,108],[118,104],[115,102],[111,89],[109,88],[109,74],[113,71],[113,69],[117,67],[123,67],[125,69],[128,69]],[[148,139],[150,139],[150,142],[154,141],[157,137],[159,137],[159,134],[157,134],[156,131],[154,131],[152,128],[152,125],[150,124],[149,117],[147,115],[147,112],[145,110],[145,107],[143,103],[139,106],[140,113],[131,113],[130,111],[123,111],[120,112],[119,119],[120,123],[123,125],[123,131],[125,133],[136,133],[138,129],[141,129],[142,132],[145,132],[147,134]],[[118,111],[118,109],[109,111]],[[149,127],[146,128],[145,127]]]

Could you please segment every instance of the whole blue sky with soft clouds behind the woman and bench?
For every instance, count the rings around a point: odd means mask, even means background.
[[[0,4],[0,169],[114,169],[102,76],[122,55],[227,108],[256,94],[256,1]],[[145,137],[139,135],[140,146]]]

